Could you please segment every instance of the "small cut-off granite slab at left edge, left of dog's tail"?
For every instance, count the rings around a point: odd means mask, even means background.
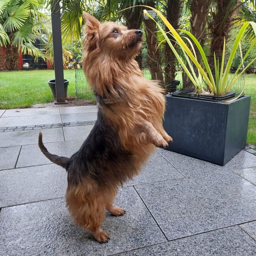
[[[0,148],[0,170],[15,168],[21,146]]]

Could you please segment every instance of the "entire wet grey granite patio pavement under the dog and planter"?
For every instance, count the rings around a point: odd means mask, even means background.
[[[0,111],[0,255],[255,256],[256,147],[225,166],[157,149],[119,189],[120,217],[106,212],[99,244],[65,207],[67,174],[41,154],[71,156],[90,133],[96,106]]]

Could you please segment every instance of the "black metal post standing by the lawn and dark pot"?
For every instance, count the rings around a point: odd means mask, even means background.
[[[55,88],[56,88],[56,101],[54,102],[54,104],[63,104],[63,103],[67,103],[67,101],[65,100],[65,89],[64,89],[60,0],[52,0],[51,15],[52,15],[52,41],[53,41]]]

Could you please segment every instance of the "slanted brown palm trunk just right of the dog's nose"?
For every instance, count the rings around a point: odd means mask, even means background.
[[[154,1],[147,2],[148,6],[155,7]],[[159,52],[157,40],[157,27],[154,20],[148,18],[144,20],[146,43],[148,48],[148,64],[151,73],[151,79],[160,81],[163,84],[163,72],[161,68],[161,56]]]

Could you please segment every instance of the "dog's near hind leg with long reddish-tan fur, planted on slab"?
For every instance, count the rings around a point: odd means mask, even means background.
[[[105,197],[99,193],[75,195],[72,191],[67,191],[66,199],[75,224],[89,230],[99,243],[107,242],[109,235],[101,229],[105,218]]]

